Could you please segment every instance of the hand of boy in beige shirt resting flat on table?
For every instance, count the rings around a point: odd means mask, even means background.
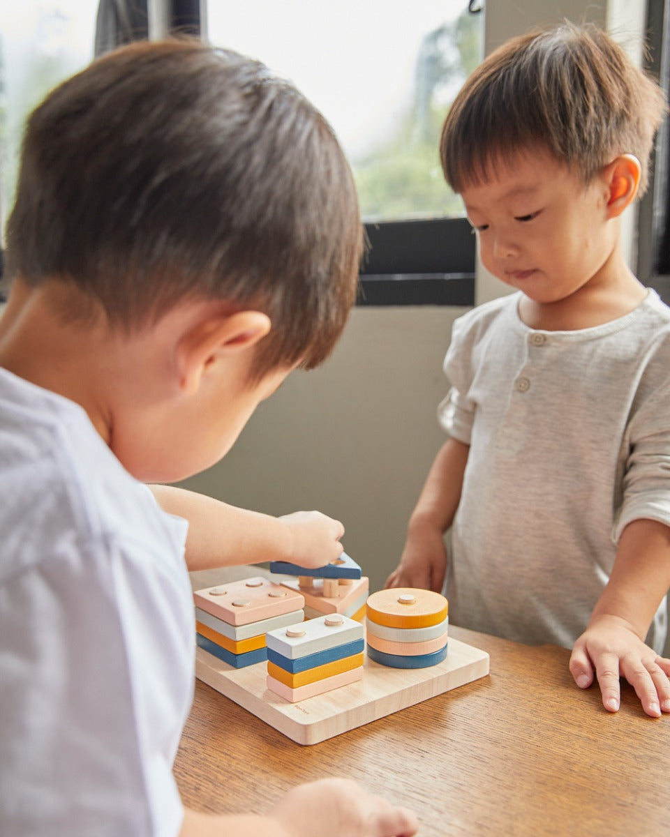
[[[635,689],[647,715],[657,718],[670,712],[670,660],[644,644],[625,619],[596,616],[575,642],[570,673],[577,686],[590,686],[594,670],[607,711],[619,708],[622,676]]]

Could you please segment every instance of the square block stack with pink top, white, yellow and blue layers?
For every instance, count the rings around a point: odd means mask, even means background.
[[[267,660],[267,631],[305,617],[300,593],[265,578],[197,590],[193,601],[198,648],[236,669]]]

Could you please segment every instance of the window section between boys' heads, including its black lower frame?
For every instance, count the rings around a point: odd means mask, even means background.
[[[483,51],[465,0],[211,0],[209,41],[260,59],[322,110],[352,165],[370,249],[360,304],[472,305],[475,241],[446,187],[447,107]]]

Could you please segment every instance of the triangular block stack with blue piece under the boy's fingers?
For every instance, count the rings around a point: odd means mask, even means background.
[[[270,571],[297,576],[296,579],[285,579],[281,584],[304,596],[307,619],[322,614],[341,614],[360,622],[365,618],[369,579],[346,552],[325,567],[310,569],[275,561],[271,562]]]

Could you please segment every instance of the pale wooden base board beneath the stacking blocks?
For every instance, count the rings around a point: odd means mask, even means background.
[[[363,680],[289,703],[265,687],[267,665],[234,669],[196,649],[196,676],[298,744],[317,744],[488,674],[486,651],[449,639],[446,660],[392,669],[365,659]]]

